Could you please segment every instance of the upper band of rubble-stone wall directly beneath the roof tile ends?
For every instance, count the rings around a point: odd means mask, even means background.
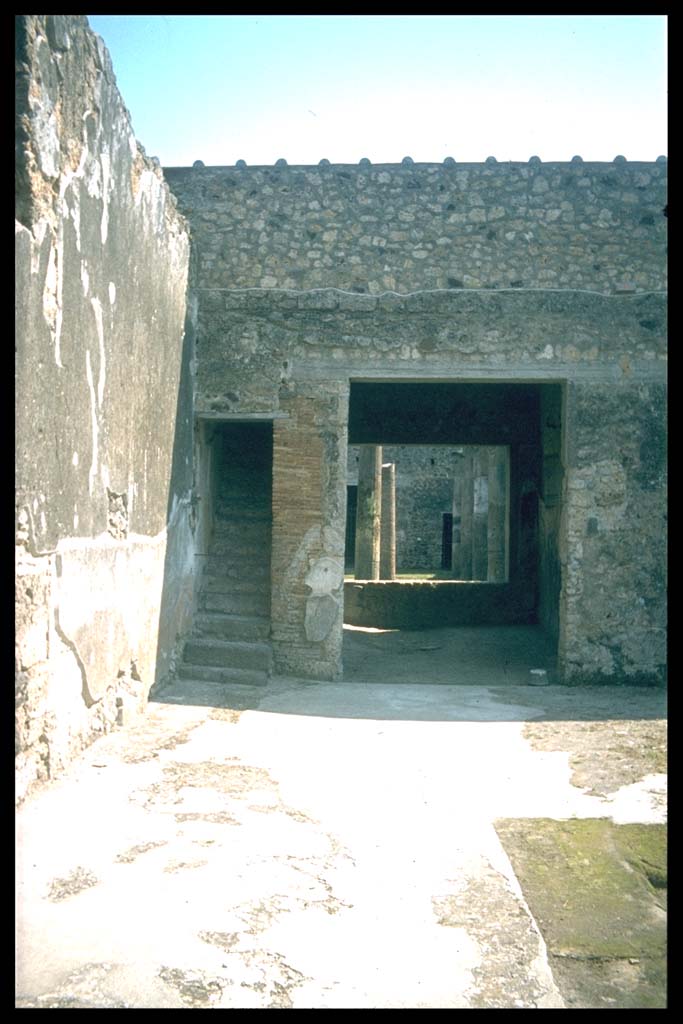
[[[169,168],[204,288],[666,287],[666,165]]]

